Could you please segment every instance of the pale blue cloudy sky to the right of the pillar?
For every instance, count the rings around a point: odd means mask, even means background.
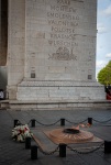
[[[96,75],[111,61],[111,0],[98,0]]]

